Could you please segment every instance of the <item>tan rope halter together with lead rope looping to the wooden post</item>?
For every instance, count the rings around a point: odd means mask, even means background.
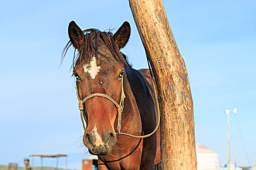
[[[110,100],[111,102],[113,102],[115,104],[115,106],[117,107],[117,109],[118,109],[118,127],[117,127],[118,128],[118,133],[116,133],[117,135],[126,135],[126,136],[130,136],[130,137],[135,137],[135,138],[145,138],[145,137],[149,137],[149,136],[153,135],[158,130],[158,126],[160,124],[160,109],[159,109],[157,91],[156,91],[155,83],[154,83],[154,80],[153,80],[153,74],[152,74],[152,71],[151,71],[149,61],[148,61],[148,67],[149,67],[149,71],[150,71],[150,75],[151,75],[152,84],[153,84],[153,87],[154,87],[154,93],[155,93],[157,111],[158,111],[158,122],[157,122],[157,126],[156,126],[155,130],[153,132],[151,132],[150,134],[144,135],[144,136],[135,136],[135,135],[130,135],[130,134],[120,132],[120,130],[121,130],[121,117],[122,117],[122,111],[123,111],[123,102],[124,102],[124,99],[125,99],[125,94],[124,94],[124,90],[123,90],[123,77],[122,77],[122,80],[121,80],[122,81],[121,82],[121,97],[120,97],[120,103],[119,104],[114,99],[112,99],[111,97],[109,97],[108,95],[103,94],[103,93],[94,93],[94,94],[91,94],[91,95],[87,96],[83,100],[80,100],[79,93],[78,93],[78,84],[77,84],[76,89],[77,89],[77,96],[78,96],[78,100],[79,100],[79,110],[80,110],[80,116],[81,116],[81,120],[82,120],[82,123],[83,123],[84,131],[85,131],[85,126],[84,126],[84,122],[83,122],[83,117],[84,117],[84,115],[83,115],[83,103],[85,101],[87,101],[88,99],[91,99],[95,96],[101,96],[101,97],[105,97],[108,100]]]

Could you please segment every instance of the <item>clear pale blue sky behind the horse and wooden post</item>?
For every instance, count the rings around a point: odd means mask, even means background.
[[[231,151],[237,164],[256,164],[256,1],[163,0],[189,74],[196,141],[227,160],[226,115],[231,115]],[[145,52],[128,0],[25,0],[0,5],[0,164],[23,166],[30,154],[69,154],[69,168],[86,158],[78,101],[71,78],[72,52],[59,68],[69,40],[67,27],[105,30],[129,21],[123,52],[134,68],[146,68]],[[115,31],[116,31],[115,30]],[[243,139],[243,140],[241,140]],[[231,161],[234,162],[233,156]],[[46,159],[45,165],[55,166]],[[60,166],[65,161],[60,160]],[[39,159],[35,159],[39,166]]]

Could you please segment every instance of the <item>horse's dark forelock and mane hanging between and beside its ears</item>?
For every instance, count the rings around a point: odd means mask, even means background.
[[[98,47],[105,45],[109,51],[112,53],[113,57],[123,64],[125,67],[131,68],[132,66],[127,62],[126,55],[124,55],[122,52],[119,51],[118,47],[116,46],[113,34],[110,32],[101,32],[98,29],[86,29],[82,31],[84,33],[84,42],[81,45],[81,48],[78,52],[76,52],[76,49],[74,51],[73,55],[73,63],[71,67],[75,67],[77,64],[81,64],[81,62],[88,62],[88,60],[91,60],[93,57],[98,60],[98,54],[104,56],[108,61],[113,60],[109,56],[104,55],[103,53],[100,53],[98,51]],[[61,54],[61,63],[69,50],[69,48],[72,46],[71,41],[69,40],[66,44],[64,50]]]

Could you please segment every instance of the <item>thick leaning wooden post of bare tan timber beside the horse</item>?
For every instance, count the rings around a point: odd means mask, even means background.
[[[129,0],[152,66],[161,112],[162,170],[197,170],[193,100],[188,74],[161,0]]]

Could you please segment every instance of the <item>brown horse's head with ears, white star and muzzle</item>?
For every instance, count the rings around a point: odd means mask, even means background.
[[[70,43],[78,51],[74,59],[73,75],[81,100],[100,93],[119,103],[122,81],[126,77],[125,68],[129,67],[119,50],[128,42],[130,32],[128,22],[124,22],[114,35],[96,29],[82,31],[74,21],[70,22]],[[84,145],[91,154],[110,153],[117,141],[118,108],[102,96],[91,97],[80,104],[86,122]]]

